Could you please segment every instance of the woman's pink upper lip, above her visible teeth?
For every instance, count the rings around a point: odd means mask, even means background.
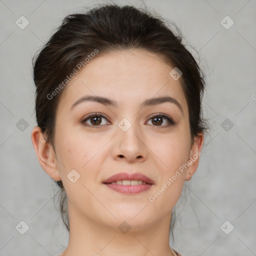
[[[151,180],[149,177],[139,172],[136,172],[136,173],[119,172],[105,179],[103,183],[111,183],[117,180],[142,180],[143,182],[146,182],[148,184],[154,183],[153,180]]]

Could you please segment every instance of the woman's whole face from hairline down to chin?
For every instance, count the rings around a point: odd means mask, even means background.
[[[198,149],[191,147],[187,103],[171,70],[144,50],[112,51],[90,60],[66,85],[54,144],[69,218],[117,228],[123,221],[139,228],[170,220],[188,173],[197,167],[184,164]],[[105,99],[80,100],[88,96]],[[118,173],[127,176],[104,183]],[[150,184],[120,181],[127,179]]]

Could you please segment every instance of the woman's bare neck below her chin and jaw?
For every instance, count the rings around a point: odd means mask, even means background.
[[[122,223],[122,220],[119,222]],[[131,227],[125,232],[124,229],[121,231],[106,223],[79,216],[77,212],[71,210],[69,211],[69,241],[61,256],[175,255],[169,247],[169,224],[170,217],[167,216],[157,223]]]

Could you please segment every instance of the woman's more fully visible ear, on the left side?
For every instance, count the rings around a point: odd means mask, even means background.
[[[61,180],[55,152],[52,145],[46,142],[40,127],[35,126],[32,129],[31,140],[33,147],[38,158],[38,161],[44,171],[54,180]]]

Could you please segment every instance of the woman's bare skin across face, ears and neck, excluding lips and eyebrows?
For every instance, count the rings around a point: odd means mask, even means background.
[[[40,128],[33,128],[31,139],[40,165],[51,178],[62,180],[67,193],[70,235],[61,256],[175,255],[169,247],[171,210],[199,156],[155,201],[148,198],[201,151],[203,134],[191,145],[188,107],[180,79],[169,75],[172,68],[142,49],[98,55],[64,88],[56,111],[55,151]],[[70,110],[83,95],[104,96],[118,106],[86,101]],[[180,103],[183,113],[171,102],[139,106],[145,99],[166,95]],[[82,120],[95,112],[106,119],[102,117],[99,125],[87,119],[85,126]],[[159,112],[176,124],[167,126],[163,118],[157,125],[152,117]],[[117,125],[123,118],[131,124],[127,131]],[[67,178],[72,169],[80,175],[74,183]],[[140,172],[154,184],[141,193],[119,193],[102,183],[118,172]],[[118,229],[123,221],[131,226],[127,233]]]

